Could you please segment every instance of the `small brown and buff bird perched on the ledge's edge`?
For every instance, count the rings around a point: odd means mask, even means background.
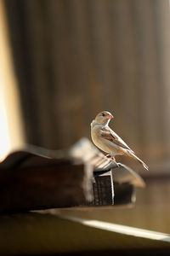
[[[124,154],[132,157],[134,160],[138,160],[146,170],[149,170],[144,161],[139,159],[134,151],[127,146],[127,143],[125,143],[115,131],[111,130],[109,123],[113,118],[114,117],[110,112],[102,111],[99,112],[92,121],[91,137],[95,146],[104,151],[107,154],[106,156],[111,156],[111,159],[114,162],[116,161],[116,154]]]

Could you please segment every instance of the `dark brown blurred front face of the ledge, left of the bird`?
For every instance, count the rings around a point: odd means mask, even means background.
[[[83,183],[83,166],[66,161],[1,172],[0,212],[80,205],[90,193]]]

